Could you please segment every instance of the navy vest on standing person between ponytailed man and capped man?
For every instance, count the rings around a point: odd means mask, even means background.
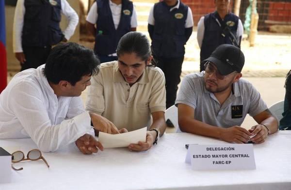
[[[180,1],[178,9],[170,12],[165,2],[154,5],[155,28],[152,39],[152,51],[155,56],[165,58],[183,57],[186,37],[185,22],[188,6]]]

